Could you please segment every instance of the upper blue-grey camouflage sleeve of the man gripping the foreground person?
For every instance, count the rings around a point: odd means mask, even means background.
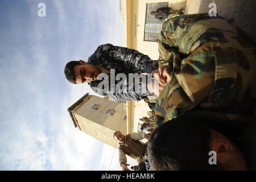
[[[158,69],[157,61],[151,60],[135,49],[113,46],[112,44],[103,44],[97,48],[93,55],[97,58],[104,56],[106,60],[113,59],[131,64],[134,68],[141,69],[145,73],[151,73],[153,69]]]

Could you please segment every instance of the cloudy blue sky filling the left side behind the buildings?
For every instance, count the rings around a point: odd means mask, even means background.
[[[0,3],[0,170],[120,169],[114,148],[74,128],[67,108],[92,90],[64,76],[100,44],[125,46],[119,1]]]

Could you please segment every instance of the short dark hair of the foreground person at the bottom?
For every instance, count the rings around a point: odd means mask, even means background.
[[[199,118],[181,115],[160,125],[148,142],[148,160],[153,170],[220,170],[209,164],[210,128]]]

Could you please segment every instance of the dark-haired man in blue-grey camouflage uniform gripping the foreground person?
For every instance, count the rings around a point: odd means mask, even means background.
[[[114,74],[111,76],[110,71],[114,69]],[[65,76],[69,82],[73,84],[79,84],[87,82],[92,90],[101,96],[107,96],[112,101],[139,101],[145,100],[148,102],[147,96],[150,92],[146,89],[146,92],[136,92],[139,89],[146,87],[146,82],[139,85],[128,85],[129,73],[151,73],[158,69],[158,61],[151,60],[147,55],[143,55],[135,49],[129,49],[126,47],[113,46],[112,44],[103,44],[98,46],[96,51],[88,58],[88,62],[85,61],[70,61],[64,69]],[[127,77],[127,93],[122,90],[115,90],[113,93],[106,93],[106,88],[98,88],[98,85],[102,80],[98,80],[100,73],[106,73],[108,75],[108,90],[116,88],[119,80],[115,80],[118,73],[123,73]],[[114,76],[114,81],[110,81],[110,78]],[[151,80],[148,79],[148,80]],[[113,87],[112,87],[113,86]]]

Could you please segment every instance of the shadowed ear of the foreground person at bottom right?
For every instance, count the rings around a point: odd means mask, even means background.
[[[232,159],[234,146],[229,140],[225,138],[212,138],[209,142],[211,151],[215,151],[217,154],[217,162],[224,164]]]

